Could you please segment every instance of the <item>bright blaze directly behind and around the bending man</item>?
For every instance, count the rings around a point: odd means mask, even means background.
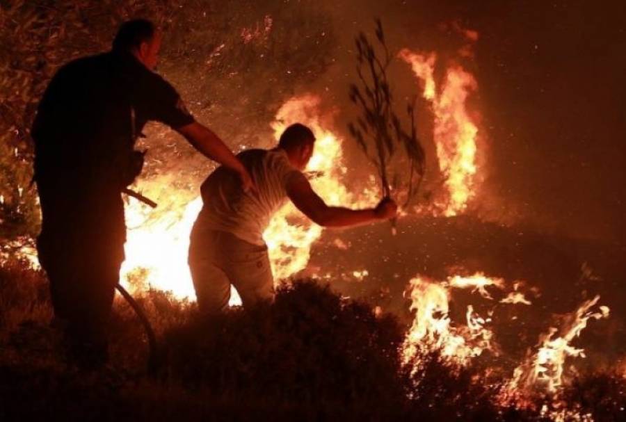
[[[332,205],[373,206],[377,199],[374,190],[365,189],[360,195],[353,195],[342,184],[348,171],[343,164],[342,141],[326,129],[327,124],[319,117],[319,105],[319,97],[313,95],[286,102],[272,125],[276,138],[291,123],[307,124],[316,136],[314,154],[306,169],[312,175],[316,193]],[[170,188],[170,180],[160,178],[142,184],[143,193],[159,202],[157,209],[132,199],[127,205],[129,230],[120,279],[127,280],[133,291],[159,289],[170,291],[177,298],[195,300],[187,250],[191,226],[202,207],[202,199],[188,190],[168,190],[167,195],[161,195],[163,186]],[[276,280],[287,279],[307,266],[311,246],[322,231],[322,227],[304,218],[291,202],[280,209],[264,232]],[[231,304],[239,303],[234,294]]]

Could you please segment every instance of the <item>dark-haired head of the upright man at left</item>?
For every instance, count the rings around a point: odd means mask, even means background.
[[[124,22],[113,40],[113,51],[127,51],[152,70],[159,61],[161,31],[147,19]]]

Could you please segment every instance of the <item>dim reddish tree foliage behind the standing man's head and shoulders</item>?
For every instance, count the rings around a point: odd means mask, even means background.
[[[30,127],[47,83],[70,60],[108,50],[134,17],[163,28],[159,73],[227,141],[267,127],[332,48],[327,19],[307,1],[0,0],[0,245],[38,232]],[[159,154],[168,143],[157,138]]]

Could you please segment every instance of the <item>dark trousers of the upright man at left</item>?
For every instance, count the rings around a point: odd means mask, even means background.
[[[118,190],[38,180],[42,231],[38,257],[54,315],[78,359],[106,359],[107,328],[124,260],[126,227]]]

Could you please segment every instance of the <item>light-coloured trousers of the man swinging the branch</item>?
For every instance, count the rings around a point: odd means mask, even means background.
[[[194,229],[188,263],[202,314],[227,309],[231,284],[244,308],[273,300],[274,279],[266,245],[253,245],[227,232]]]

